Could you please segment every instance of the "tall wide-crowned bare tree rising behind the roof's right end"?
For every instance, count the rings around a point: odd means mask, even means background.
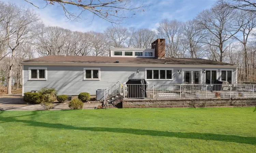
[[[236,18],[236,11],[227,7],[220,8],[218,5],[202,11],[196,17],[197,23],[204,29],[205,34],[208,34],[204,43],[218,47],[220,62],[223,61],[223,53],[227,49],[226,41],[240,30],[241,26],[235,22]]]

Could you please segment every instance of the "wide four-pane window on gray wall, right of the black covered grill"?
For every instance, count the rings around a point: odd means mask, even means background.
[[[173,69],[146,69],[146,80],[172,80]]]

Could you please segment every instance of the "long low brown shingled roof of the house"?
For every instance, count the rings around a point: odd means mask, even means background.
[[[233,65],[230,63],[205,60],[202,58],[141,58],[141,57],[109,57],[109,56],[64,56],[48,55],[23,62],[39,63],[115,63],[123,64],[188,64],[188,65]]]

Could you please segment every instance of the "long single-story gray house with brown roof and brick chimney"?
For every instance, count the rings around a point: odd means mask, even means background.
[[[201,58],[165,58],[165,39],[152,49],[110,48],[110,57],[49,55],[21,62],[23,93],[45,86],[69,96],[96,94],[117,81],[145,79],[148,84],[237,83],[237,65]]]

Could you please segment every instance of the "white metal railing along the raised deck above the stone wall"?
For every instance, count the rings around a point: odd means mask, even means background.
[[[242,98],[255,97],[255,84],[122,84],[120,94],[134,98]],[[125,94],[123,94],[125,93]]]

